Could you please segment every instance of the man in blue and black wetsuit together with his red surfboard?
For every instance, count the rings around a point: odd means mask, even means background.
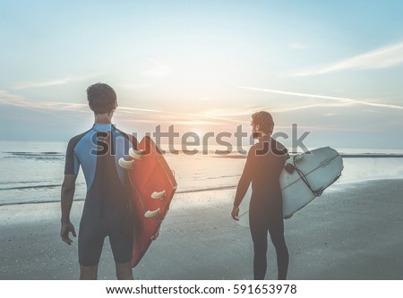
[[[133,279],[133,270],[159,235],[176,192],[176,180],[158,146],[149,137],[139,144],[117,130],[112,116],[116,93],[107,84],[87,89],[92,128],[69,141],[62,185],[62,240],[76,236],[70,221],[80,166],[87,184],[78,237],[80,279],[97,279],[104,239],[108,236],[117,279]]]

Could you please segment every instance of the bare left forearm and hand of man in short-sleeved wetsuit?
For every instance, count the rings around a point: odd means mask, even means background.
[[[70,222],[70,210],[73,205],[76,178],[77,175],[64,175],[61,193],[62,228],[60,230],[60,236],[64,243],[69,245],[73,243],[73,240],[69,237],[69,233],[71,232],[74,237],[76,236],[74,226]]]

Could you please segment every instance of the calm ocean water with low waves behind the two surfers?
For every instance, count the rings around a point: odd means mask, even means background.
[[[1,141],[0,205],[59,201],[66,146],[67,142]],[[403,179],[403,150],[338,150],[348,158],[343,158],[345,168],[337,183]],[[166,158],[175,171],[177,192],[235,188],[245,162],[244,158],[220,158],[212,152],[167,154]],[[74,200],[84,200],[85,192],[80,171]]]

